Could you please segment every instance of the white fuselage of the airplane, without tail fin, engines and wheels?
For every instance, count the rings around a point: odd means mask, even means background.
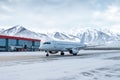
[[[74,48],[82,49],[83,47],[85,47],[85,45],[79,42],[50,41],[43,43],[40,49],[44,51],[70,51]]]

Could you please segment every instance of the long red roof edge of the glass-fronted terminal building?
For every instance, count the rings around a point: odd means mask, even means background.
[[[18,40],[28,40],[28,41],[41,41],[41,40],[39,40],[39,39],[25,38],[25,37],[16,37],[16,36],[7,36],[7,35],[0,35],[0,38],[18,39]]]

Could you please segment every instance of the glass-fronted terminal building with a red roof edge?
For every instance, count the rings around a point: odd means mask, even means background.
[[[0,51],[36,51],[39,46],[39,39],[0,35]]]

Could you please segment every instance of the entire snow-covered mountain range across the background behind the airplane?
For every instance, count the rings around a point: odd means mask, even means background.
[[[111,41],[120,41],[120,34],[110,30],[82,29],[72,30],[71,32],[53,32],[53,33],[36,33],[26,29],[23,26],[16,25],[6,30],[0,30],[2,35],[12,35],[19,37],[36,38],[41,40],[66,40],[80,41],[83,33],[85,33],[85,42],[89,44],[104,44]]]

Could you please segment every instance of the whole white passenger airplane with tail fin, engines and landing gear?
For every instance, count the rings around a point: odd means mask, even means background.
[[[64,52],[68,51],[70,54],[77,55],[79,50],[84,49],[86,44],[84,44],[85,33],[83,34],[80,42],[67,42],[67,41],[47,41],[40,46],[40,50],[47,52],[46,56],[50,54],[61,52],[61,55],[64,55]]]

